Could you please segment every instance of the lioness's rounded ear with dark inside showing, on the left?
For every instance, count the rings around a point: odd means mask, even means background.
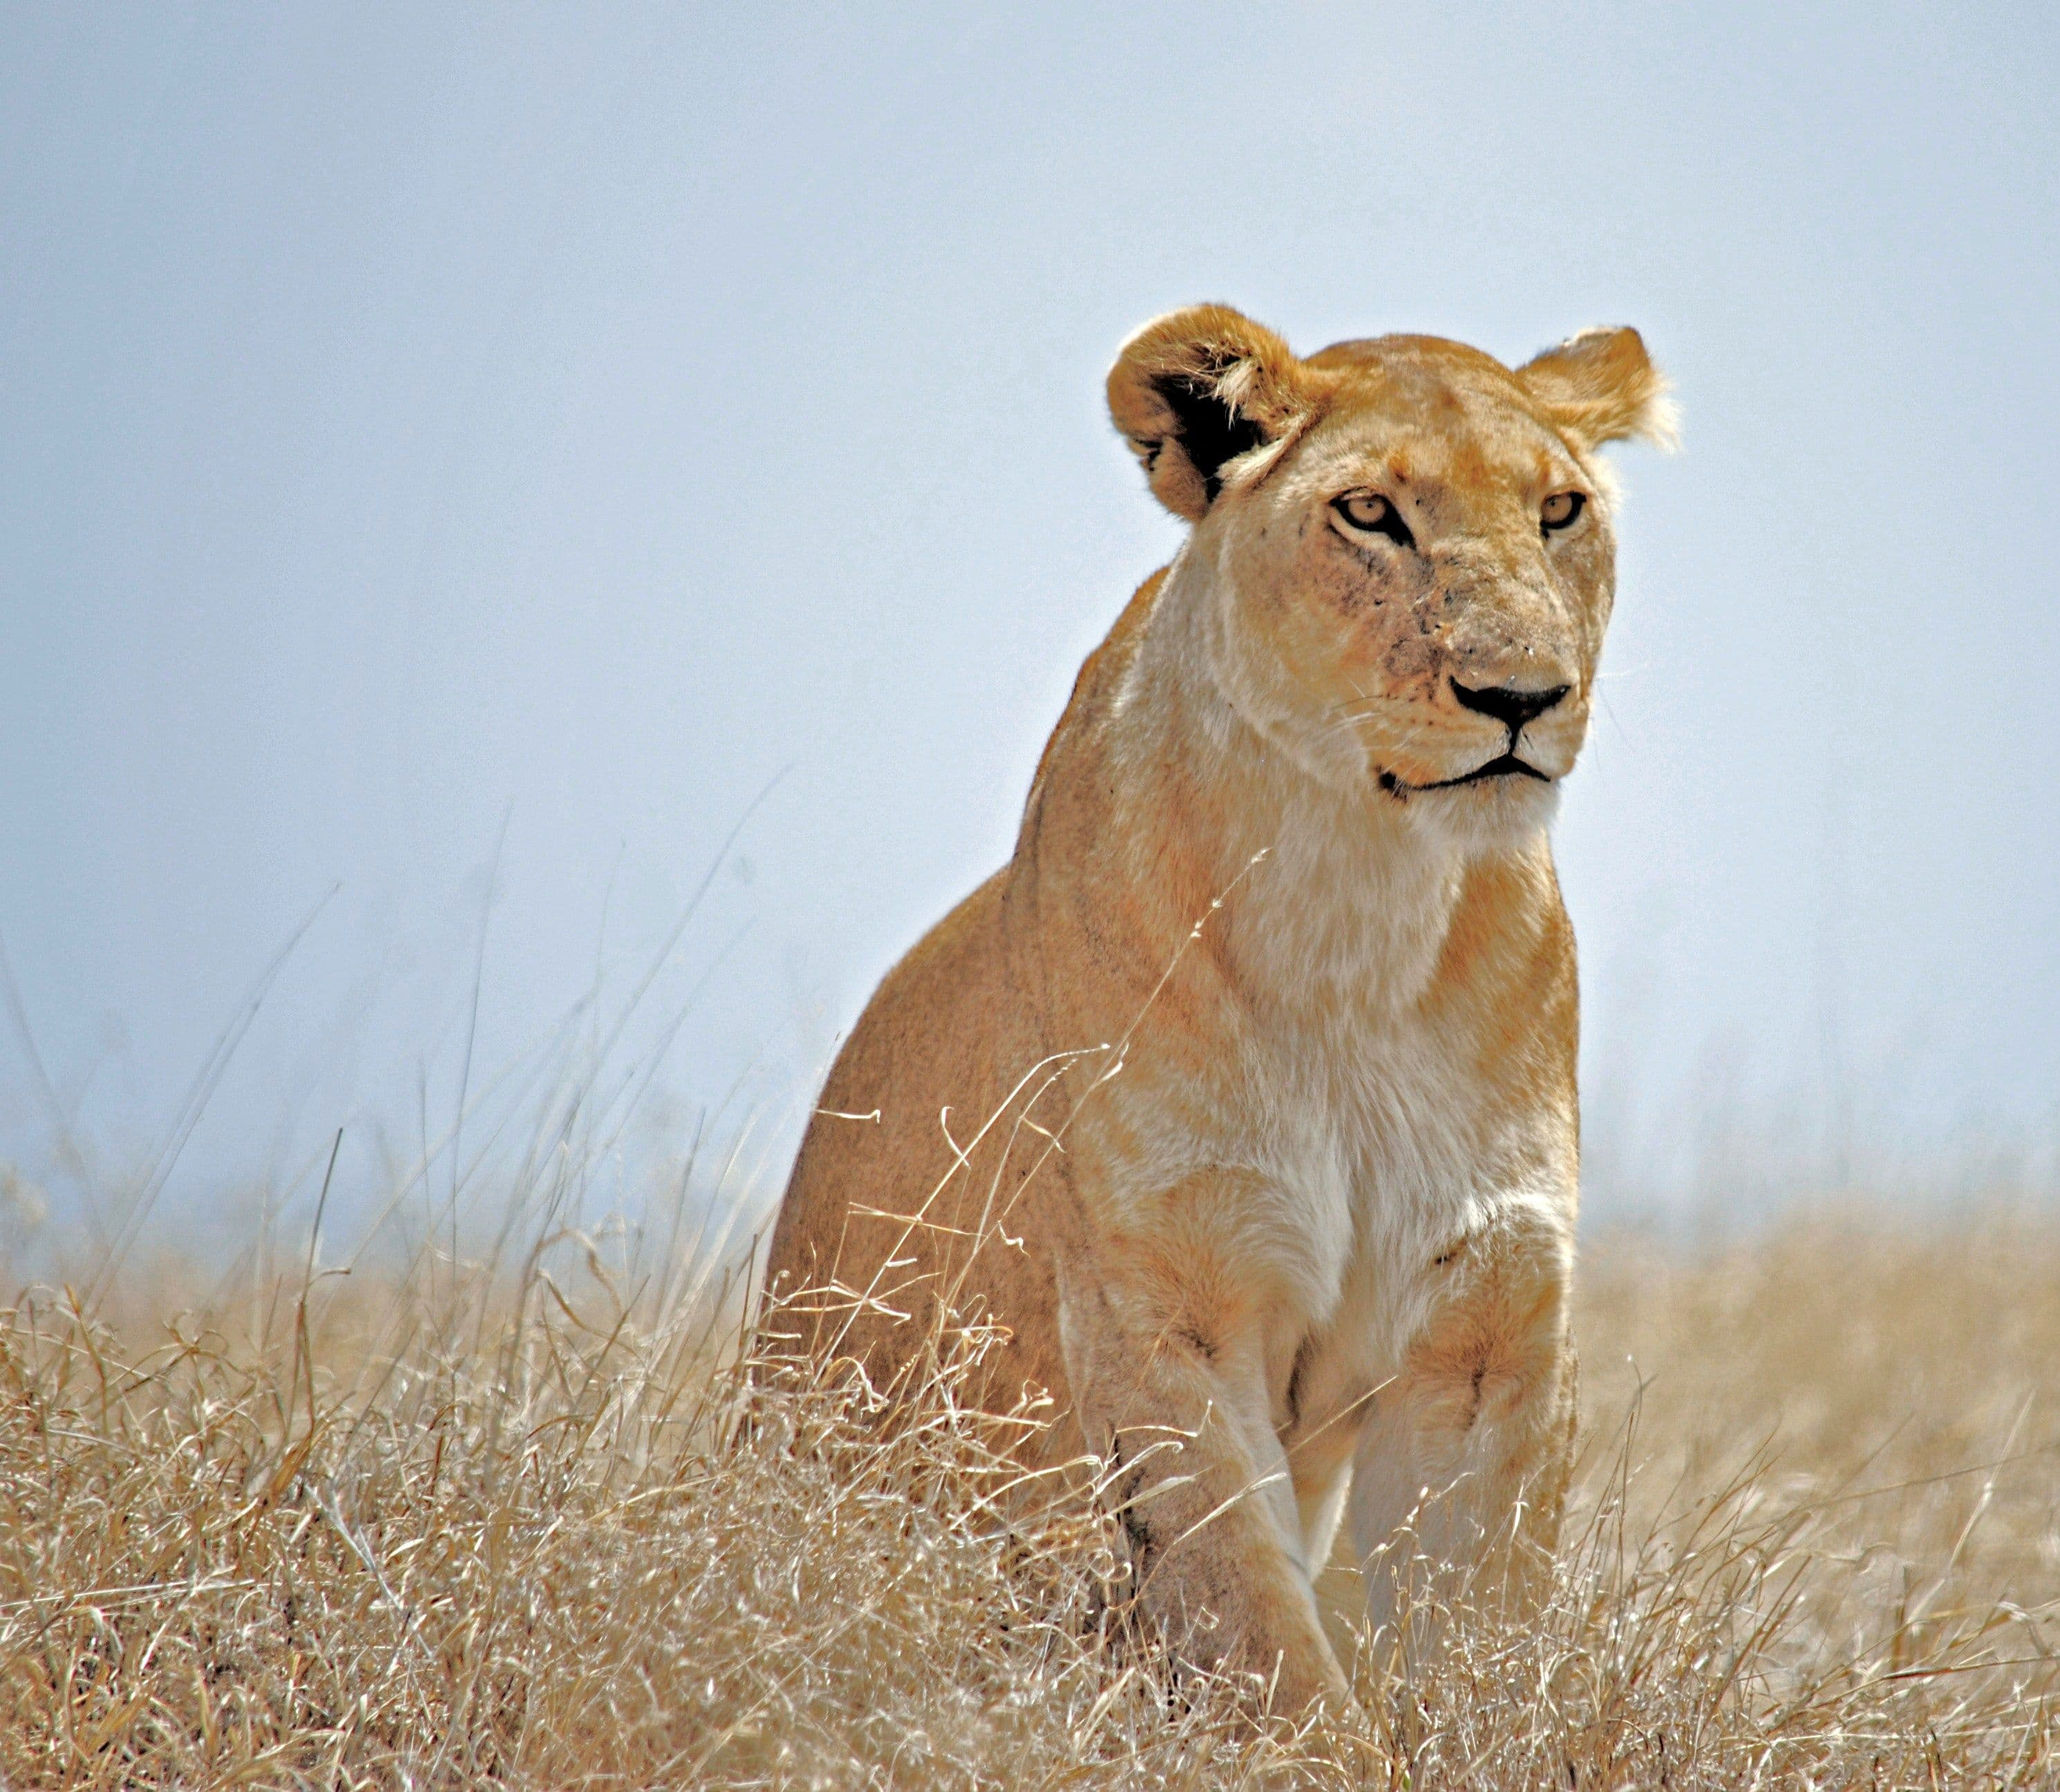
[[[1306,412],[1294,350],[1228,305],[1156,317],[1108,373],[1108,414],[1160,503],[1189,521],[1215,503],[1226,461],[1279,441]]]

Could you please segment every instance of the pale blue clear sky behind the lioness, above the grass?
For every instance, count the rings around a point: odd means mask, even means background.
[[[1100,381],[1197,299],[1677,381],[1559,824],[1596,1180],[2050,1156],[2056,297],[2046,6],[10,4],[0,1160],[196,1077],[196,1199],[406,1156],[721,861],[647,1139],[777,1174],[1178,540]]]

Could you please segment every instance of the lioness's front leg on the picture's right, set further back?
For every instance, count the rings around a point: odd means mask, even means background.
[[[1376,1397],[1349,1502],[1376,1631],[1413,1613],[1405,1640],[1428,1642],[1434,1584],[1473,1605],[1539,1596],[1574,1438],[1568,1254],[1557,1226],[1471,1240]]]

